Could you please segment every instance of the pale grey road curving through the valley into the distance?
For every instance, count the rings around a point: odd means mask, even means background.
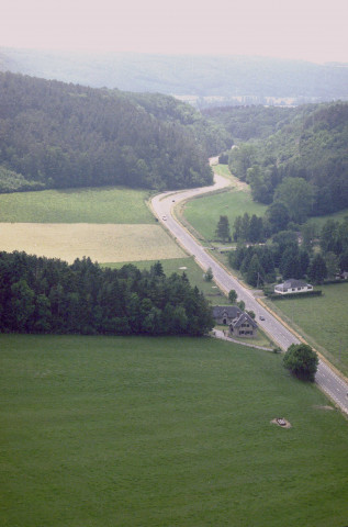
[[[151,206],[159,222],[162,223],[190,255],[194,256],[202,269],[206,270],[209,267],[212,268],[216,284],[226,293],[234,289],[238,294],[238,299],[245,302],[246,309],[255,312],[259,326],[278,346],[287,350],[291,344],[299,344],[300,339],[278,317],[257,301],[250,289],[245,288],[238,279],[227,272],[172,214],[173,206],[178,203],[194,198],[195,195],[224,189],[229,184],[231,181],[215,173],[214,186],[178,192],[164,192],[153,198]],[[260,319],[260,317],[265,319]],[[315,381],[340,410],[348,414],[348,383],[335,373],[323,360],[319,360]]]

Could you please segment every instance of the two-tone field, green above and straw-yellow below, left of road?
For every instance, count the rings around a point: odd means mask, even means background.
[[[0,195],[0,247],[68,262],[182,258],[156,222],[147,191],[69,189]]]

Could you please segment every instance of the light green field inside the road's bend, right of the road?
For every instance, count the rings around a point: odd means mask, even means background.
[[[214,170],[226,176],[226,167],[220,168],[221,165],[214,167]],[[228,170],[228,169],[227,169]],[[237,178],[233,178],[235,187],[226,192],[204,195],[186,203],[182,214],[184,218],[201,234],[206,240],[215,238],[215,229],[221,215],[228,217],[231,234],[233,234],[233,224],[237,216],[245,212],[252,215],[263,216],[267,205],[256,203],[251,199],[248,186],[238,182]]]

